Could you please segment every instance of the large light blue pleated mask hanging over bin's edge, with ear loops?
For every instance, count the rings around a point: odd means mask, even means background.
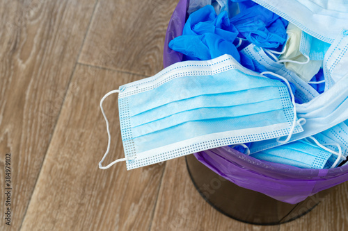
[[[176,63],[155,76],[122,85],[106,94],[119,93],[125,158],[115,162],[126,161],[129,170],[220,146],[290,139],[303,130],[289,83],[283,81],[249,71],[231,55],[222,55]],[[106,125],[109,134],[107,120]],[[110,137],[104,157],[109,146]],[[101,169],[115,163],[102,166],[102,161]]]

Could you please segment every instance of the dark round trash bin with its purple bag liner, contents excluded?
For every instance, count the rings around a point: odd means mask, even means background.
[[[182,61],[168,48],[182,35],[189,0],[180,0],[168,24],[164,67]],[[257,160],[228,146],[187,155],[193,185],[215,209],[233,219],[277,225],[310,212],[332,187],[348,180],[348,165],[335,169],[299,169]]]

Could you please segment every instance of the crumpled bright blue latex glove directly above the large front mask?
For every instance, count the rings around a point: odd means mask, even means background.
[[[212,6],[193,12],[184,26],[182,36],[169,42],[169,47],[185,55],[185,60],[210,60],[224,54],[240,62],[233,44],[238,31],[230,24],[227,12],[216,15]]]

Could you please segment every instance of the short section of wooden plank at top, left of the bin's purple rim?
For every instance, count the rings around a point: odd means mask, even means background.
[[[100,0],[79,62],[152,76],[177,0]]]

